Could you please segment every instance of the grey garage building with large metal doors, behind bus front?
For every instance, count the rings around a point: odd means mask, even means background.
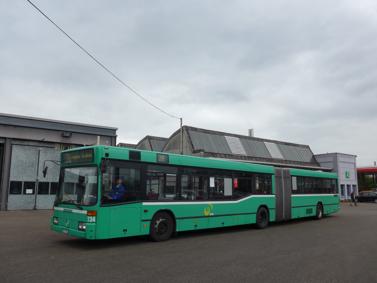
[[[0,113],[0,210],[51,209],[60,152],[85,145],[115,146],[116,130]]]

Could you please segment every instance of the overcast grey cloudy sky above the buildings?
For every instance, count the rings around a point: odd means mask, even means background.
[[[377,161],[377,2],[31,0],[183,124]],[[0,3],[0,112],[170,137],[180,121],[122,85],[26,0]]]

